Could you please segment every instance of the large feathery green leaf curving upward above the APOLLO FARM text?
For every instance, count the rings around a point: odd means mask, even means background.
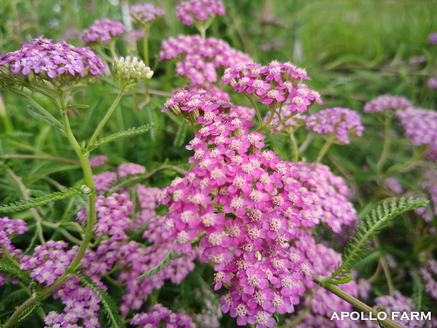
[[[347,275],[354,265],[357,264],[368,251],[368,244],[378,232],[384,228],[388,221],[392,220],[395,216],[404,213],[410,209],[417,209],[427,206],[428,200],[423,198],[410,197],[408,200],[401,198],[399,203],[393,199],[390,206],[387,202],[384,202],[382,206],[378,206],[372,211],[371,216],[367,216],[361,221],[361,227],[357,227],[350,237],[349,242],[343,251],[342,264],[336,267],[332,275],[325,279],[325,283],[345,283],[350,280]],[[335,279],[335,280],[332,280]]]

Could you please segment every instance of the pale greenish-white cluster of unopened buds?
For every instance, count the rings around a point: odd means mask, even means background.
[[[121,91],[142,80],[150,80],[153,76],[153,70],[137,57],[127,56],[114,59],[114,73],[120,80]]]

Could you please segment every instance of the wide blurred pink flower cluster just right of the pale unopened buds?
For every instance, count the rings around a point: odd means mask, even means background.
[[[216,69],[234,67],[239,62],[252,62],[250,56],[233,49],[216,38],[202,40],[200,35],[170,37],[161,44],[159,60],[177,58],[176,75],[191,79],[193,84],[217,81]]]

